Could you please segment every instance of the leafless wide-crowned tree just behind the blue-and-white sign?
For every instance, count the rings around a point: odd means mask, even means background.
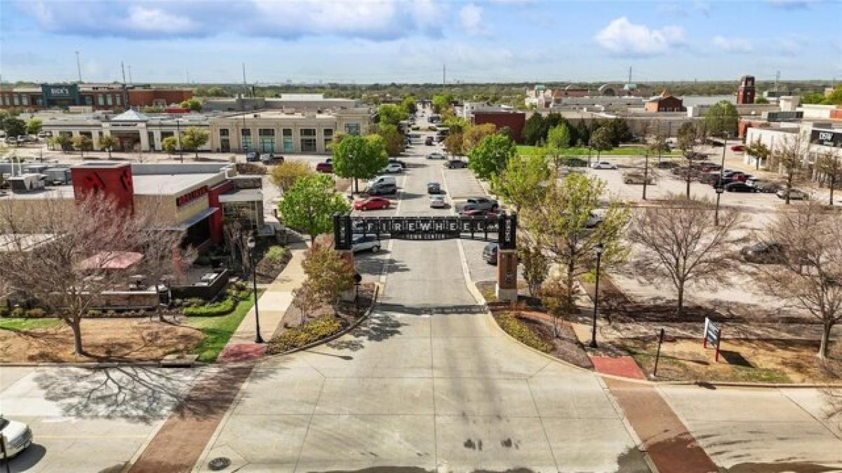
[[[642,248],[637,273],[650,279],[667,279],[678,293],[676,313],[684,310],[685,287],[690,281],[719,279],[734,263],[732,244],[741,221],[737,210],[719,210],[713,225],[714,206],[709,199],[669,196],[657,207],[638,211],[628,240]]]

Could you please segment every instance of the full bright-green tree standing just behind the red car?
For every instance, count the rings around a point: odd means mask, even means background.
[[[379,127],[380,125],[378,125]],[[333,148],[333,173],[341,178],[373,178],[389,163],[386,145],[378,135],[346,136]]]

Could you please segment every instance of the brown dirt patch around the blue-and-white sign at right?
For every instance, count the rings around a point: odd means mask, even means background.
[[[658,341],[655,337],[611,340],[613,348],[634,357],[652,375]],[[816,357],[818,342],[797,340],[723,340],[719,361],[701,340],[678,338],[663,343],[659,380],[741,381],[771,383],[838,382],[842,380],[842,344],[831,357]]]

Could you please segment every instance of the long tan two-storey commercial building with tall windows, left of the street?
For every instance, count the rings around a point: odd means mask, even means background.
[[[259,111],[213,117],[210,149],[218,152],[325,153],[338,133],[368,132],[369,109],[333,113]]]

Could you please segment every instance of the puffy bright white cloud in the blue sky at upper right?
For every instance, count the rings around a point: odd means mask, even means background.
[[[626,17],[620,17],[601,29],[594,40],[615,55],[655,56],[683,45],[685,32],[679,26],[650,29],[645,24],[633,24]]]

